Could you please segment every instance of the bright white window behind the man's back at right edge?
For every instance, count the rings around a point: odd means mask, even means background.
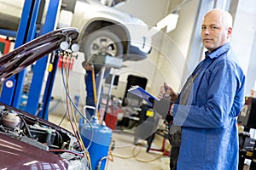
[[[250,90],[256,90],[256,1],[240,0],[236,11],[236,20],[232,44],[241,61],[246,74],[245,94],[250,95]],[[256,97],[256,96],[255,96]]]

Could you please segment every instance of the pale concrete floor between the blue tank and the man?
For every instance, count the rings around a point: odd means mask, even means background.
[[[113,161],[109,161],[108,163],[108,170],[168,169],[166,167],[169,167],[169,162],[167,162],[167,166],[162,166],[165,160],[161,152],[151,150],[146,152],[148,146],[146,141],[142,140],[140,141],[140,144],[133,144],[134,133],[131,130],[118,133],[114,132],[113,139],[115,141],[115,149],[113,150]],[[156,146],[155,143],[156,141],[152,144],[152,147],[160,148],[159,146]],[[167,161],[169,161],[169,157],[167,157]]]

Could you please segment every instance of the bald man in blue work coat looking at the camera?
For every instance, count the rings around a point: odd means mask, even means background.
[[[172,101],[172,124],[182,129],[177,169],[238,168],[236,117],[244,105],[245,76],[230,46],[231,34],[231,15],[210,10],[201,24],[205,59],[179,94],[166,83],[160,88],[159,96]]]

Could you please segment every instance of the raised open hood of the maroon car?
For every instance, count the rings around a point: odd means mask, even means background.
[[[62,28],[44,34],[19,48],[15,48],[14,51],[0,58],[0,81],[6,80],[46,54],[60,48],[61,42],[66,41],[70,44],[78,37],[78,29]]]

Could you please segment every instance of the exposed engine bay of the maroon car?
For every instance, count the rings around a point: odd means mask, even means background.
[[[86,169],[87,158],[81,156],[82,150],[73,133],[5,105],[0,105],[0,120],[0,133],[67,159],[69,169]]]

